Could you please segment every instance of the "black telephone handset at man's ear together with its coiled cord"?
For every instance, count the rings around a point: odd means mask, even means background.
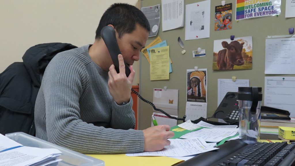
[[[115,66],[115,69],[116,69],[117,73],[119,73],[119,60],[118,60],[118,55],[121,54],[121,51],[120,51],[119,46],[118,46],[118,43],[117,43],[115,30],[111,26],[105,26],[105,27],[103,27],[101,29],[100,35],[101,35],[101,38],[104,40],[104,43],[106,44],[106,47],[109,50],[109,53],[110,53],[110,55],[112,57],[112,60],[113,60],[114,66]],[[128,77],[129,74],[130,74],[129,65],[127,65],[125,62],[124,62],[124,64],[125,64],[125,73],[126,73],[126,76]],[[148,100],[145,100],[134,89],[131,89],[131,91],[134,92],[142,101],[144,101],[144,102],[152,105],[153,108],[154,108],[154,110],[159,111],[159,112],[165,114],[166,116],[168,116],[171,119],[176,119],[176,120],[185,122],[186,115],[184,115],[183,118],[176,118],[174,116],[171,116],[168,113],[165,113],[165,111],[156,108],[155,105],[152,102],[150,102]]]

